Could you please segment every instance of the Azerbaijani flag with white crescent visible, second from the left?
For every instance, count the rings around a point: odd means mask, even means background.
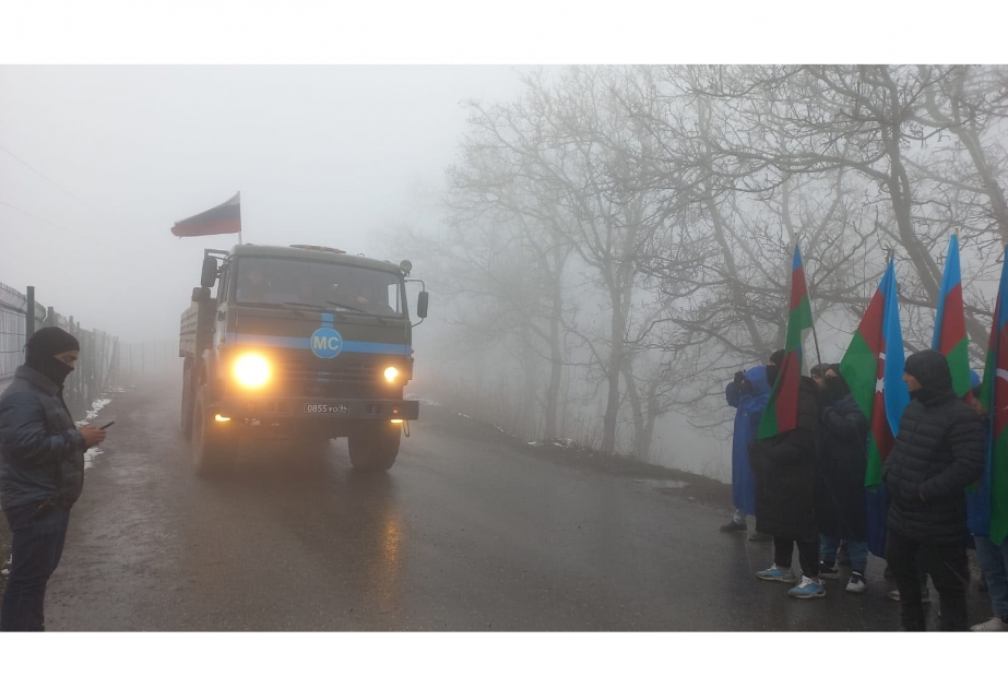
[[[882,462],[896,443],[910,391],[903,382],[903,331],[892,257],[854,339],[840,361],[854,401],[870,422],[865,486],[882,482]]]

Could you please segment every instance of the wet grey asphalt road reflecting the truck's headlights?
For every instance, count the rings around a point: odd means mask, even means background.
[[[754,576],[769,544],[718,532],[727,503],[641,477],[653,472],[547,460],[424,406],[387,475],[354,474],[335,440],[313,456],[250,448],[235,475],[206,482],[177,400],[135,388],[102,412],[116,425],[73,511],[48,630],[899,626],[880,561],[864,595],[830,581],[822,600],[792,600]],[[988,616],[972,592],[971,621]]]

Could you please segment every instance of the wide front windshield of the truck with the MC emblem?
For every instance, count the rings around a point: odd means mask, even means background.
[[[398,275],[356,265],[284,258],[242,258],[235,275],[239,304],[304,304],[324,310],[403,315],[403,283]]]

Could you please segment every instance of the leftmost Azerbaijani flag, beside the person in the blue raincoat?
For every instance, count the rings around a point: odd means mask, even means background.
[[[770,392],[770,401],[759,422],[758,439],[768,439],[798,426],[798,387],[802,383],[802,344],[813,327],[813,307],[808,300],[802,252],[795,245],[791,265],[791,309],[784,342],[784,363]]]

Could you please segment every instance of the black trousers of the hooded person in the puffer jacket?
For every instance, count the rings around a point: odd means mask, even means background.
[[[970,582],[970,566],[965,545],[935,547],[906,539],[899,533],[889,531],[886,561],[892,568],[897,588],[900,590],[900,617],[904,630],[925,630],[924,603],[921,602],[921,580],[925,573],[930,576],[935,590],[938,591],[941,605],[939,629],[969,629],[967,586]]]

